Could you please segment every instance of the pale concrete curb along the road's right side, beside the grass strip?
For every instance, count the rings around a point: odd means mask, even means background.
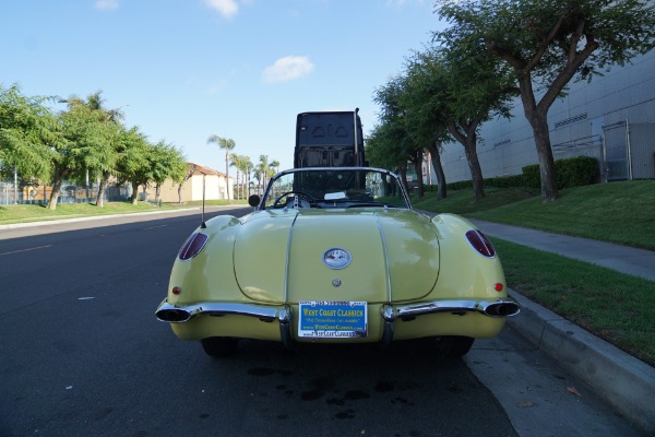
[[[508,324],[648,435],[655,435],[655,368],[510,290],[521,314]]]

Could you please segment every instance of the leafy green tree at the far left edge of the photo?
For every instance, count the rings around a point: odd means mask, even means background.
[[[53,157],[49,143],[56,118],[45,106],[50,97],[27,97],[19,85],[0,84],[0,172],[47,180]]]

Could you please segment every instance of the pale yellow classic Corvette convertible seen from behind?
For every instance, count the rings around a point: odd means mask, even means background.
[[[391,172],[308,167],[273,177],[254,211],[203,223],[180,249],[156,317],[212,356],[239,338],[380,342],[438,338],[461,356],[519,312],[487,237],[412,209]]]

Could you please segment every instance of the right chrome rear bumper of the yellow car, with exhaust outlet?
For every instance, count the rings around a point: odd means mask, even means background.
[[[510,297],[492,302],[485,300],[434,300],[393,308],[393,319],[409,319],[434,312],[480,312],[489,317],[515,316],[521,310],[519,303]],[[389,320],[388,317],[384,317]]]

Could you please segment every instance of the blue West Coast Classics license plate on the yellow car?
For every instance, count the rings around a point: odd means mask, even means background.
[[[338,339],[366,336],[366,302],[300,302],[298,336]]]

